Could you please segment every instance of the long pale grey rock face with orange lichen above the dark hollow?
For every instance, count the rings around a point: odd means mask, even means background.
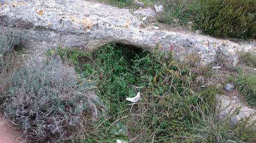
[[[145,30],[129,9],[82,0],[0,0],[0,31],[25,32],[35,54],[52,47],[92,50],[115,42],[169,52],[180,61],[207,65],[219,54],[236,64],[239,52],[256,51],[255,44],[237,44],[164,30]],[[172,48],[170,48],[172,47]],[[194,59],[196,59],[194,61]]]

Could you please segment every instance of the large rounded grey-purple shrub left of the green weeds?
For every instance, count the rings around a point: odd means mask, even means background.
[[[35,60],[14,72],[4,115],[28,140],[63,142],[86,133],[86,122],[97,115],[92,85],[78,79],[59,57]]]

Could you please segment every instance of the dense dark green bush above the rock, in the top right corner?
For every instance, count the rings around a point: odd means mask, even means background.
[[[256,33],[256,2],[200,0],[195,27],[216,37],[253,38]]]

